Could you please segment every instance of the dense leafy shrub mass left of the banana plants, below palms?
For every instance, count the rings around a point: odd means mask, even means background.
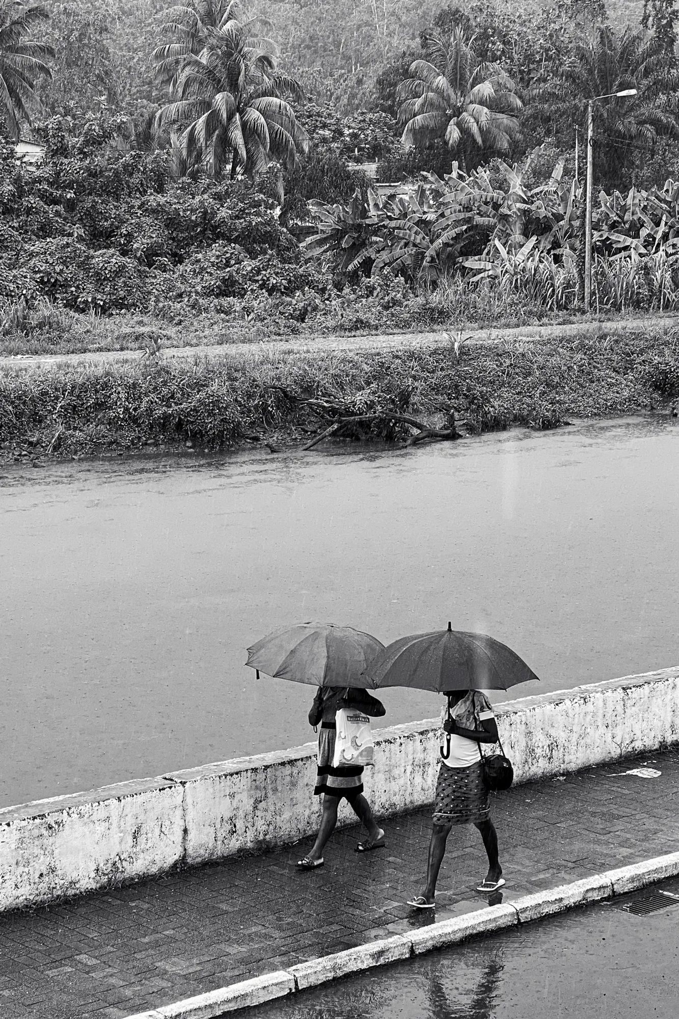
[[[0,299],[109,315],[146,308],[153,293],[156,308],[178,303],[176,314],[323,288],[274,200],[247,181],[174,179],[167,152],[107,148],[115,127],[101,115],[73,133],[53,118],[35,170],[0,147],[0,243],[11,255]]]

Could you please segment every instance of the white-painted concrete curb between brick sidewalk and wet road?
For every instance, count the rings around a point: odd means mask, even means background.
[[[231,983],[197,998],[188,998],[174,1005],[165,1005],[151,1012],[140,1012],[126,1019],[215,1019],[226,1012],[261,1005],[263,1002],[303,990],[305,987],[329,983],[341,976],[360,973],[374,966],[413,958],[433,949],[449,948],[477,934],[487,934],[505,927],[530,923],[543,916],[561,913],[575,906],[600,902],[611,896],[634,892],[665,877],[679,874],[679,853],[658,856],[628,867],[618,867],[602,874],[592,874],[570,884],[561,884],[545,892],[522,896],[514,902],[485,907],[462,916],[455,916],[413,931],[333,955],[321,956],[309,962],[291,966],[289,970],[266,973],[252,980]]]

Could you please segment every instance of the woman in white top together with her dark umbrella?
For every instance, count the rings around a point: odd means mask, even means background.
[[[436,782],[427,879],[422,893],[408,903],[434,909],[436,881],[454,824],[474,824],[488,857],[488,871],[477,891],[492,893],[505,878],[500,865],[498,834],[490,820],[480,744],[499,742],[492,708],[483,690],[507,690],[537,677],[518,654],[485,634],[448,630],[415,634],[394,641],[369,666],[377,688],[403,686],[432,690],[448,697],[445,746]]]

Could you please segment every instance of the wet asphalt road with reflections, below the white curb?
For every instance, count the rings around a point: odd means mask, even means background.
[[[656,888],[679,896],[677,879]],[[622,908],[636,896],[348,977],[247,1014],[249,1019],[677,1019],[679,899],[637,916]]]

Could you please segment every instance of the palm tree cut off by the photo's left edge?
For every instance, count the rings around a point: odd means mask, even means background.
[[[36,78],[52,77],[44,61],[54,50],[45,43],[25,42],[38,21],[49,19],[41,4],[0,0],[0,110],[10,138],[19,138],[19,122],[31,123],[29,108],[40,107]]]

